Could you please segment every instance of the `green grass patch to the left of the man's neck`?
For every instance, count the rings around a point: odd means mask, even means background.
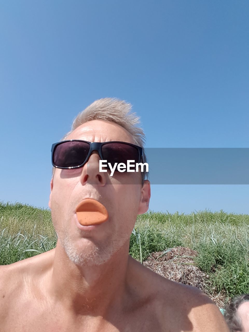
[[[0,202],[0,265],[50,250],[56,242],[50,210]]]

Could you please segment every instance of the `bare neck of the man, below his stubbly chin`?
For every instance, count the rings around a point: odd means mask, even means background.
[[[109,261],[96,266],[71,262],[59,240],[50,275],[50,293],[54,303],[74,314],[104,316],[121,307],[127,288],[129,241]]]

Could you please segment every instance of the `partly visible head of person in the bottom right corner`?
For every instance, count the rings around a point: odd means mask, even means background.
[[[231,332],[249,332],[249,294],[234,297],[226,305],[224,317]]]

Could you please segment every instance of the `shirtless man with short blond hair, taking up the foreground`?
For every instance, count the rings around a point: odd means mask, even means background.
[[[96,101],[75,119],[64,140],[142,147],[143,131],[129,110],[124,101]],[[63,155],[53,149],[57,168],[49,197],[57,245],[0,267],[0,331],[228,332],[219,309],[204,293],[167,280],[129,256],[136,217],[148,210],[150,200],[150,183],[142,173],[116,171],[110,176],[110,170],[99,171],[97,150],[83,149],[79,156],[65,142],[61,146]],[[132,158],[139,155],[136,147],[123,148]],[[118,149],[106,146],[103,159],[120,160]],[[79,166],[77,162],[80,167],[58,168]],[[104,206],[106,221],[95,224],[93,211],[88,219],[93,226],[79,222],[77,207],[87,199]]]

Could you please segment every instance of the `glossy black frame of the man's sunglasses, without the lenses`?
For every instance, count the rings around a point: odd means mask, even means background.
[[[82,164],[80,164],[79,166],[72,166],[72,167],[59,167],[59,166],[55,166],[54,163],[53,163],[53,154],[54,154],[54,150],[55,148],[60,145],[60,144],[63,144],[65,142],[72,142],[72,141],[77,141],[77,142],[84,142],[84,143],[88,143],[90,145],[90,149],[89,149],[89,152],[86,156],[86,159],[84,160],[84,162]],[[135,144],[131,144],[131,143],[127,143],[127,142],[122,142],[122,141],[109,141],[109,142],[88,142],[88,141],[84,141],[82,139],[68,139],[68,140],[65,140],[65,141],[60,141],[60,142],[56,142],[56,143],[53,143],[52,144],[52,147],[51,147],[51,160],[52,160],[52,165],[53,167],[56,167],[56,168],[61,168],[61,169],[75,169],[75,168],[81,168],[83,167],[88,159],[90,158],[91,154],[93,151],[98,151],[99,153],[99,156],[100,156],[100,159],[101,160],[106,160],[103,158],[103,155],[102,155],[102,151],[101,151],[101,148],[103,145],[105,144],[108,144],[108,143],[123,143],[123,144],[126,144],[126,145],[130,145],[130,146],[133,146],[135,147],[137,150],[138,150],[138,162],[140,163],[141,159],[142,159],[142,156],[143,156],[143,149],[141,148],[141,146],[138,146],[138,145],[135,145]]]

